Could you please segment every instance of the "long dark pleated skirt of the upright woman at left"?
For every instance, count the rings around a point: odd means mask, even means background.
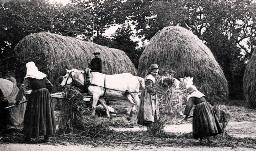
[[[35,90],[29,95],[23,131],[29,138],[56,133],[52,98],[47,89]]]

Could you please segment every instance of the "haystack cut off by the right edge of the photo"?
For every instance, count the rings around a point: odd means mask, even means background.
[[[243,89],[249,106],[256,108],[256,48],[244,71]]]

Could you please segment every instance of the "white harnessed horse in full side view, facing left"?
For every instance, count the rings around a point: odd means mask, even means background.
[[[67,74],[63,76],[60,86],[72,84],[74,81],[85,86],[85,83],[90,83],[88,92],[93,96],[92,116],[95,116],[95,109],[100,100],[100,103],[106,110],[107,117],[110,118],[108,107],[104,97],[119,97],[123,96],[130,101],[131,106],[127,110],[127,119],[132,116],[134,105],[139,107],[139,88],[140,83],[145,87],[144,79],[138,76],[133,76],[130,73],[122,73],[115,75],[105,75],[99,72],[92,72],[90,68],[85,68],[85,71],[72,69],[67,70]]]

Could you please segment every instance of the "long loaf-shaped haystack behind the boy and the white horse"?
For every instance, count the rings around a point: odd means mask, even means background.
[[[16,78],[22,80],[26,73],[25,64],[34,61],[38,69],[46,73],[50,81],[66,73],[65,68],[84,69],[91,62],[94,51],[100,51],[104,74],[129,72],[136,75],[132,61],[121,50],[100,46],[92,42],[65,37],[49,32],[30,34],[16,45],[20,68]]]

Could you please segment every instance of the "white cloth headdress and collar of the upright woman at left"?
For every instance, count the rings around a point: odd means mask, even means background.
[[[30,61],[26,64],[27,67],[27,74],[24,78],[36,78],[36,79],[43,79],[46,77],[46,74],[44,74],[43,72],[38,71],[36,65],[34,62]]]

